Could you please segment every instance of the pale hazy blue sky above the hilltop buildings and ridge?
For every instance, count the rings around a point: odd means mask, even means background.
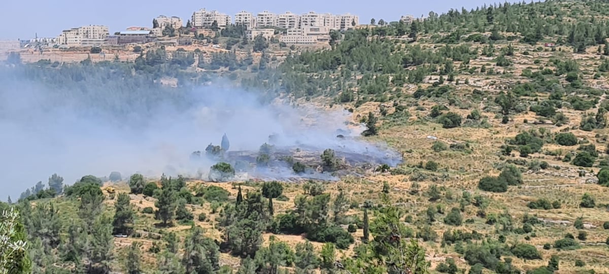
[[[0,9],[0,39],[29,39],[56,37],[63,29],[104,24],[110,33],[130,26],[151,26],[152,18],[158,15],[179,16],[189,19],[194,10],[205,8],[219,10],[234,16],[241,10],[256,13],[262,10],[283,13],[315,11],[318,13],[352,13],[359,15],[361,24],[370,18],[397,21],[401,15],[427,15],[430,10],[443,13],[451,8],[460,9],[491,4],[491,0],[431,0],[431,1],[154,1],[154,0],[102,0],[102,1],[3,1]],[[510,1],[513,2],[513,1]]]

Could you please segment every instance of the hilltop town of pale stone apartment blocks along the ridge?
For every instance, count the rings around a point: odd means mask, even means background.
[[[419,18],[406,15],[399,22],[409,24],[415,19]],[[375,25],[374,19],[371,24]],[[389,23],[380,19],[378,25],[384,24]],[[0,60],[6,60],[9,52],[19,52],[25,62],[49,60],[62,63],[86,58],[92,61],[133,61],[143,48],[192,46],[191,50],[206,47],[209,52],[222,52],[234,50],[237,43],[240,43],[238,51],[243,52],[244,46],[250,42],[253,45],[257,37],[275,51],[295,47],[320,48],[328,46],[333,32],[358,27],[362,27],[359,16],[350,13],[308,12],[299,15],[264,10],[258,13],[241,11],[230,16],[217,10],[199,9],[192,12],[186,21],[177,16],[160,15],[152,19],[150,26],[130,26],[116,32],[110,32],[108,26],[89,25],[65,29],[57,37],[0,41]]]

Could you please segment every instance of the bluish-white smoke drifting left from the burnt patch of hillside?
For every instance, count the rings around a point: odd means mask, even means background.
[[[57,72],[57,74],[67,72]],[[277,149],[300,148],[316,155],[361,155],[392,166],[400,156],[357,136],[361,125],[348,125],[350,113],[266,104],[259,94],[227,85],[164,88],[132,85],[119,77],[42,81],[23,72],[0,72],[0,186],[13,200],[37,181],[57,173],[72,184],[83,175],[123,178],[133,173],[205,174],[213,160],[189,160],[195,150],[230,140],[229,152],[257,152],[272,142]],[[47,78],[49,76],[46,76]],[[45,78],[46,79],[46,78]],[[131,81],[131,82],[128,82]],[[125,88],[125,86],[127,86]],[[337,131],[338,130],[338,131]],[[337,138],[337,135],[345,138]],[[269,140],[269,136],[275,138]],[[360,160],[357,160],[360,161]],[[291,166],[245,170],[237,178],[334,179],[328,174],[296,175]]]

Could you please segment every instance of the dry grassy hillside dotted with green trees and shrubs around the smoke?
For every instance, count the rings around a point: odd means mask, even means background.
[[[135,175],[62,189],[52,177],[63,195],[40,185],[16,204],[33,272],[609,272],[609,2],[451,10],[338,36],[283,61],[211,54],[205,72],[166,49],[82,66],[98,85],[98,66],[177,86],[220,75],[344,108],[403,163],[336,182]],[[29,76],[80,71],[45,65]]]

